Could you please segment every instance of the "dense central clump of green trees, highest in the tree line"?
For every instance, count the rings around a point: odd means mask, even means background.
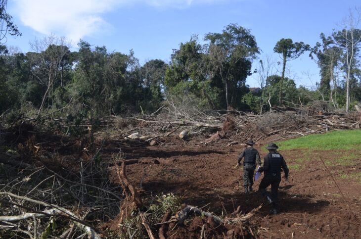
[[[202,99],[202,106],[213,109],[242,106],[245,81],[259,53],[254,36],[229,24],[222,33],[206,34],[205,40],[208,44],[201,46],[193,36],[174,50],[165,73],[168,94],[191,94]]]

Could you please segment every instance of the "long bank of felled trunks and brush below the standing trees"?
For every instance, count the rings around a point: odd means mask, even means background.
[[[169,111],[166,109],[165,111]],[[360,129],[360,113],[319,110],[314,106],[273,107],[271,112],[262,115],[241,111],[212,112],[192,115],[177,112],[141,115],[128,118],[131,128],[119,128],[121,137],[126,140],[138,140],[150,145],[163,144],[167,137],[179,135],[186,139],[194,135],[203,135],[198,144],[208,144],[226,138],[230,145],[252,138],[256,141],[288,139],[329,130]],[[175,117],[177,115],[177,117]],[[186,119],[181,118],[181,116]],[[195,120],[196,119],[196,120]],[[120,119],[117,119],[120,121]],[[124,123],[126,120],[121,119]],[[231,127],[228,127],[229,124]],[[128,124],[129,125],[129,124]]]

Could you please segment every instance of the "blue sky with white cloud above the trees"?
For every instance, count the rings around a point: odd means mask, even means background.
[[[237,23],[251,30],[260,57],[268,54],[277,62],[278,40],[314,46],[321,32],[338,29],[349,8],[360,6],[360,0],[8,0],[7,11],[23,35],[9,36],[6,44],[27,52],[29,41],[54,33],[71,39],[74,48],[81,38],[109,51],[133,49],[141,64],[156,58],[168,62],[172,49],[191,35],[202,40]],[[307,87],[319,81],[308,53],[288,62],[286,75]],[[258,87],[255,78],[247,79],[250,87]]]

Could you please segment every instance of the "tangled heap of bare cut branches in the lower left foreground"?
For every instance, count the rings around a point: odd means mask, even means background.
[[[0,165],[0,237],[106,235],[99,226],[119,213],[122,194],[119,185],[110,183],[108,167],[96,161],[98,154],[87,160],[73,158],[71,165],[77,166],[66,167],[57,153],[42,150],[33,141],[19,145],[16,154],[1,154],[8,161]],[[21,162],[26,155],[31,158]]]

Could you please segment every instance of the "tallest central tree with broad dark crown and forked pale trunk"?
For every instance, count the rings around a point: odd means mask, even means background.
[[[259,53],[256,39],[250,30],[236,24],[229,24],[222,33],[208,33],[208,55],[214,75],[221,78],[225,87],[226,106],[229,108],[229,87],[231,103],[235,100],[237,87],[251,75],[253,59]]]

